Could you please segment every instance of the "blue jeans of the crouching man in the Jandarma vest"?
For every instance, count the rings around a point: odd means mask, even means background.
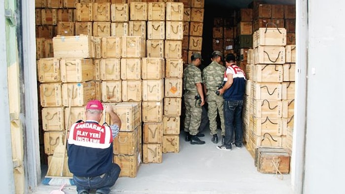
[[[90,190],[96,190],[96,192],[100,192],[102,194],[109,194],[110,187],[115,184],[120,175],[120,171],[120,166],[113,164],[112,168],[104,174],[94,177],[73,175],[73,181],[77,187],[78,194],[83,191],[89,192]]]

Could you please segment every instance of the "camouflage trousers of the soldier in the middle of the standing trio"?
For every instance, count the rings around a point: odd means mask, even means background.
[[[208,103],[208,119],[209,119],[209,129],[210,134],[217,134],[217,111],[219,113],[221,127],[222,127],[222,136],[225,136],[225,125],[224,125],[224,112],[223,105],[224,99],[223,96],[218,96],[214,91],[207,92],[207,103]]]

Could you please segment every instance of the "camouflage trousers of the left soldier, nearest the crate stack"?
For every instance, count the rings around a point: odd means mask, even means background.
[[[184,118],[184,131],[190,135],[198,134],[201,121],[201,106],[195,103],[194,95],[184,95],[184,106],[186,108],[186,116]]]

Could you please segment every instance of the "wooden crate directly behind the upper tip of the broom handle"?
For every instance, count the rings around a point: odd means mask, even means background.
[[[71,90],[73,87],[73,90]],[[65,107],[69,106],[69,96],[72,95],[71,106],[84,106],[90,100],[96,99],[95,81],[83,83],[63,83],[62,100]]]

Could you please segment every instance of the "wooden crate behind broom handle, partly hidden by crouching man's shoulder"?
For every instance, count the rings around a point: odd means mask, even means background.
[[[67,130],[70,130],[70,128],[72,127],[72,124],[74,124],[78,120],[86,121],[85,107],[71,107],[70,115],[69,115],[69,108],[66,107],[64,115],[65,115],[65,126]],[[69,119],[69,123],[68,123],[68,119]]]

